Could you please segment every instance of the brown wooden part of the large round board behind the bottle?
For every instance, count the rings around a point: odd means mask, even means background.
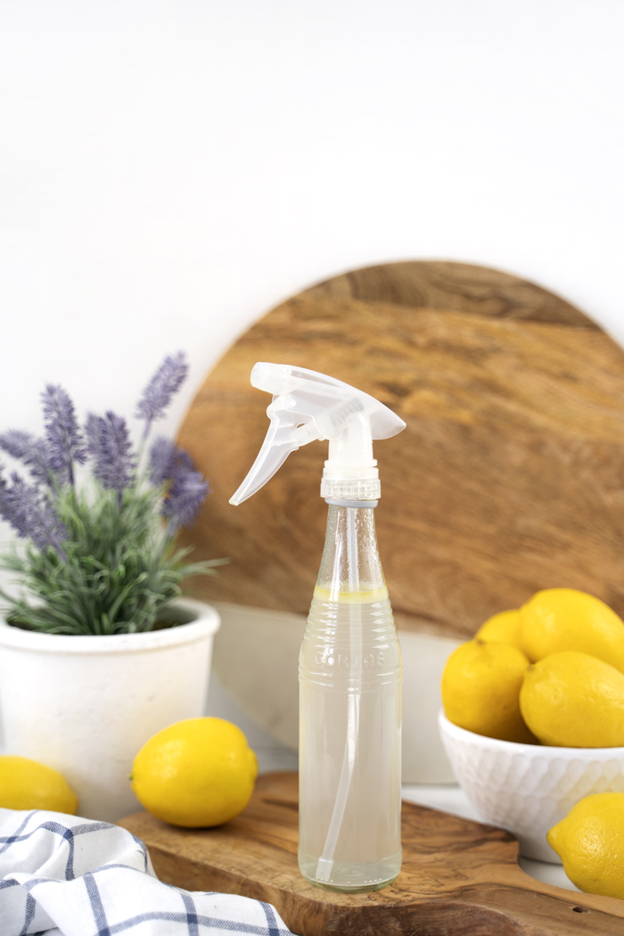
[[[180,443],[212,494],[186,541],[228,556],[210,600],[307,614],[327,506],[327,442],[228,504],[268,429],[258,360],[366,390],[407,423],[375,444],[375,511],[399,627],[472,636],[538,589],[624,614],[624,353],[568,302],[501,271],[417,261],[313,286],[269,312],[200,389]]]

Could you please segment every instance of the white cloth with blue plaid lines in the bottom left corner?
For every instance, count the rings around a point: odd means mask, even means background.
[[[62,812],[0,809],[1,936],[287,936],[269,903],[163,884],[142,841]]]

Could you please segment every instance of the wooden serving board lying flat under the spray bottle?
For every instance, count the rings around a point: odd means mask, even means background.
[[[297,774],[259,778],[225,826],[181,829],[148,812],[120,824],[144,841],[167,884],[266,900],[300,936],[622,936],[624,901],[543,884],[502,829],[403,803],[403,866],[393,885],[346,895],[297,868]]]

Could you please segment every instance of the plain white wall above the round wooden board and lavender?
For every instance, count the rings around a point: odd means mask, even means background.
[[[344,269],[449,258],[624,339],[621,0],[0,0],[0,429],[131,415]]]

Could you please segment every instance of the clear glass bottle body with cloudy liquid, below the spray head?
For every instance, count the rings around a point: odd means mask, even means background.
[[[399,639],[372,507],[330,505],[299,656],[299,869],[349,892],[401,864]]]

